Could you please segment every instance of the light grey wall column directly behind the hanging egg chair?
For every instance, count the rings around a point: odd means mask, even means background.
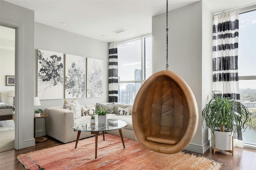
[[[202,9],[204,9],[204,12],[202,12]],[[207,17],[203,16],[204,14],[207,14]],[[202,71],[202,69],[211,69],[211,64],[208,65],[209,68],[203,66],[205,63],[210,63],[211,55],[208,56],[209,59],[202,60],[202,57],[206,57],[212,51],[212,45],[210,44],[212,27],[208,27],[212,24],[212,18],[208,20],[208,16],[209,10],[202,5],[202,1],[168,12],[169,70],[179,74],[188,83],[196,98],[199,113],[198,129],[194,139],[186,149],[198,153],[203,153],[204,147],[208,147],[208,145],[205,145],[207,143],[205,139],[204,142],[202,139],[207,135],[205,131],[202,131],[201,121],[202,106],[205,103],[202,103],[202,98],[205,100],[206,93],[203,88],[212,86],[212,80],[205,77],[208,74],[205,75]],[[152,18],[152,72],[166,69],[165,30],[166,14],[154,16]],[[203,33],[204,31],[206,32]],[[204,39],[204,37],[208,39]],[[205,42],[207,44],[203,44]]]

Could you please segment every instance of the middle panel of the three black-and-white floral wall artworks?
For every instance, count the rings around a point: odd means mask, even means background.
[[[65,56],[65,98],[86,97],[85,57],[66,54]]]

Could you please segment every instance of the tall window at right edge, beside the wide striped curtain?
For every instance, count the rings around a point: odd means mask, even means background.
[[[242,134],[246,144],[256,145],[256,9],[239,14],[238,76],[240,101],[248,108],[252,123]]]

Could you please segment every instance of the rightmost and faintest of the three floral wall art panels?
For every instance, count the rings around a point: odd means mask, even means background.
[[[87,58],[87,98],[103,95],[103,60]]]

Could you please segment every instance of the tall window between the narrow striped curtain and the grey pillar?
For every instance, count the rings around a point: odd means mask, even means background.
[[[152,74],[152,36],[118,43],[118,102],[133,104],[142,83]]]

